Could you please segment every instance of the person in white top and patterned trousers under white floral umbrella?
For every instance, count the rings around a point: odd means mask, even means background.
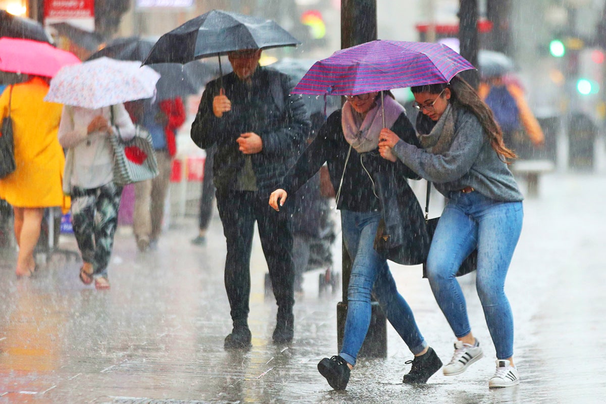
[[[65,105],[59,142],[67,151],[64,190],[72,197],[72,225],[82,254],[80,279],[109,289],[107,267],[118,225],[122,187],[113,182],[109,136],[130,140],[135,125],[123,104],[91,110]]]

